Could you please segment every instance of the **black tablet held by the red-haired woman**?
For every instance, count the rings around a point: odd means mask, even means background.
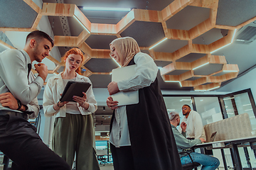
[[[85,92],[89,89],[90,83],[87,82],[79,82],[79,81],[68,81],[63,94],[60,98],[60,101],[73,101],[73,96],[82,97],[82,92]]]

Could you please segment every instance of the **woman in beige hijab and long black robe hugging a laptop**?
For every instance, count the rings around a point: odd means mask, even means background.
[[[182,169],[154,60],[140,52],[137,42],[129,37],[113,40],[110,56],[122,67],[137,64],[134,76],[107,86],[110,95],[139,90],[137,104],[117,106],[118,101],[107,98],[107,106],[114,110],[110,125],[114,169]]]

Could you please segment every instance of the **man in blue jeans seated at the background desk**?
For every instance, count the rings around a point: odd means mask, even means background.
[[[169,113],[169,119],[171,123],[171,129],[174,132],[174,138],[176,141],[176,145],[178,148],[178,152],[183,152],[185,149],[190,149],[191,147],[200,144],[202,142],[206,142],[203,138],[195,139],[195,140],[188,140],[186,139],[186,123],[181,123],[181,130],[182,133],[178,132],[177,126],[180,125],[180,116],[176,112]],[[189,151],[188,151],[189,152]],[[202,164],[202,170],[213,170],[217,169],[220,165],[220,162],[217,158],[211,157],[206,154],[200,154],[196,152],[190,151],[190,155],[193,159],[193,162],[198,162],[199,164]],[[188,154],[183,153],[179,154],[181,158],[181,164],[189,164],[191,163],[191,158],[188,156]]]

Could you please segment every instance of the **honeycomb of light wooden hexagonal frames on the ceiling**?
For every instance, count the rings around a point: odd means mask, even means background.
[[[151,33],[144,36],[146,41],[135,38],[138,41],[142,51],[147,52],[155,60],[155,62],[169,62],[160,69],[161,77],[166,82],[178,82],[182,87],[193,87],[194,90],[207,91],[218,88],[223,81],[233,79],[238,76],[238,64],[228,64],[223,55],[212,55],[215,50],[220,47],[225,47],[233,42],[235,32],[238,28],[256,20],[256,17],[250,18],[238,26],[217,25],[216,18],[218,13],[218,0],[174,0],[161,11],[145,10],[133,8],[124,16],[118,23],[91,23],[85,14],[75,4],[55,4],[43,3],[43,7],[37,6],[32,0],[23,0],[28,6],[36,11],[37,16],[31,28],[7,28],[0,27],[1,31],[23,31],[30,32],[36,30],[42,16],[67,16],[77,18],[82,24],[82,31],[78,36],[63,36],[55,35],[55,46],[58,47],[79,47],[84,52],[85,61],[82,63],[82,68],[86,71],[83,75],[90,77],[95,74],[109,75],[110,72],[94,72],[86,66],[92,60],[110,59],[110,50],[95,49],[90,45],[89,37],[93,35],[107,35],[120,38],[123,36],[132,36],[139,32]],[[189,30],[169,28],[171,19],[177,16],[185,8],[198,7],[209,9],[209,17],[201,23]],[[140,30],[134,30],[140,28]],[[228,34],[210,42],[209,44],[196,44],[194,40],[203,34],[206,34],[214,29],[228,30]],[[135,35],[134,35],[135,36]],[[163,42],[161,42],[164,40]],[[164,46],[164,52],[161,46],[153,47],[158,42]],[[185,43],[177,47],[176,50],[168,49],[169,43],[178,44]],[[6,44],[0,40],[1,44]],[[167,48],[166,48],[167,47]],[[198,59],[186,62],[186,57],[198,56]],[[52,56],[48,59],[55,63],[56,67],[49,70],[49,73],[56,73],[60,67],[65,65],[64,62],[56,60]],[[181,62],[182,61],[182,62]],[[220,69],[216,69],[220,68]],[[200,71],[200,69],[202,71]],[[206,70],[213,70],[206,72]]]

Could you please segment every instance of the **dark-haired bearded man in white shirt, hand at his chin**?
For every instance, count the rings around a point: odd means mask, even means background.
[[[0,150],[13,161],[12,169],[70,169],[50,150],[27,120],[39,112],[36,96],[48,75],[45,64],[31,63],[49,55],[53,40],[40,30],[28,34],[23,50],[0,53]]]

